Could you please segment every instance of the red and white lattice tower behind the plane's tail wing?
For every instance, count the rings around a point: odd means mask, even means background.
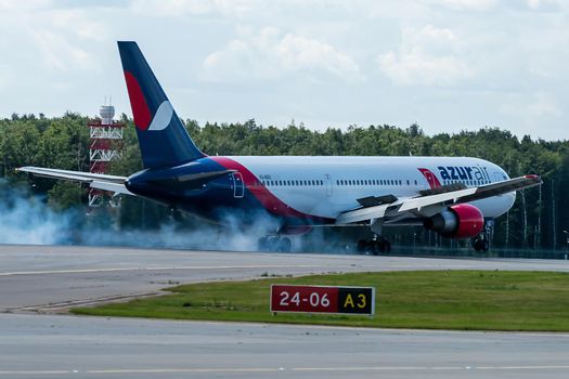
[[[122,157],[122,131],[125,125],[113,120],[115,107],[101,106],[101,119],[89,122],[91,145],[89,147],[89,172],[108,173],[109,162]],[[89,207],[96,208],[103,202],[102,192],[90,188]]]

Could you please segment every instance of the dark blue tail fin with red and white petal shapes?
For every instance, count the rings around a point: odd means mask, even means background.
[[[204,157],[178,118],[137,42],[118,51],[144,168],[172,167]]]

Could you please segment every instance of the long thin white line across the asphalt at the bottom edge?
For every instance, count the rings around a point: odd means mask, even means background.
[[[195,368],[117,368],[117,369],[88,369],[88,370],[4,370],[0,376],[11,375],[73,375],[73,374],[192,374],[192,373],[332,373],[332,371],[447,371],[447,370],[551,370],[569,369],[569,365],[551,366],[354,366],[354,367],[195,367]]]

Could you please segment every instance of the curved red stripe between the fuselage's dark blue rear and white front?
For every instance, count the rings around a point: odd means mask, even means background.
[[[228,157],[209,157],[211,160],[216,161],[217,164],[223,166],[228,170],[237,170],[243,175],[243,182],[247,190],[259,200],[259,202],[271,213],[281,215],[281,217],[292,217],[292,218],[298,218],[298,219],[310,219],[312,221],[314,220],[321,220],[324,221],[324,219],[306,214],[302,212],[297,211],[296,209],[287,206],[285,202],[283,202],[281,199],[279,199],[276,196],[274,196],[264,185],[261,184],[261,181],[255,177],[253,172],[250,172],[245,166],[241,165],[240,162],[236,162],[235,160],[228,158]]]

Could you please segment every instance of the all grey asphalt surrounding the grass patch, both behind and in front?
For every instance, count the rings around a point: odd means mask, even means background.
[[[568,334],[46,314],[73,304],[156,293],[178,283],[464,269],[569,272],[569,262],[0,246],[0,379],[569,377]]]

